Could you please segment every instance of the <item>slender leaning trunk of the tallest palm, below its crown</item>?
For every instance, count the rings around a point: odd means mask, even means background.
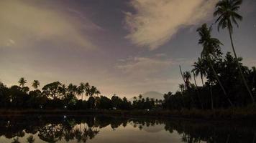
[[[231,29],[230,29],[230,27],[228,27],[228,29],[229,29],[230,41],[231,41],[231,44],[232,44],[232,50],[233,50],[233,52],[234,52],[234,58],[235,58],[236,61],[237,61],[237,66],[238,66],[239,72],[240,72],[240,74],[241,74],[242,81],[244,82],[244,86],[246,87],[247,92],[250,94],[250,97],[251,97],[251,99],[252,99],[252,103],[254,103],[254,102],[255,102],[255,99],[254,99],[254,97],[252,96],[252,92],[250,91],[250,88],[249,88],[249,86],[248,86],[248,84],[247,84],[247,82],[246,82],[246,80],[245,80],[245,78],[244,78],[244,74],[242,74],[242,69],[241,69],[241,66],[239,65],[239,61],[238,61],[238,59],[237,59],[237,53],[236,53],[236,51],[234,50],[234,44],[233,44]]]

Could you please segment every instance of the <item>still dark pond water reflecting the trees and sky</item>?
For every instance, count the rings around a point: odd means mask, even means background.
[[[106,116],[1,117],[0,142],[256,143],[256,125]]]

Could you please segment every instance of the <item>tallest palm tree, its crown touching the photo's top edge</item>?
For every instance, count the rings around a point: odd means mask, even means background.
[[[214,16],[218,16],[218,18],[216,19],[216,23],[218,22],[218,30],[220,27],[221,29],[227,28],[229,30],[229,38],[232,44],[234,57],[237,61],[239,73],[241,74],[242,81],[244,82],[244,86],[246,87],[248,93],[250,94],[252,102],[255,102],[255,99],[252,96],[252,92],[247,84],[247,81],[244,78],[244,74],[242,73],[241,66],[239,65],[239,61],[237,59],[237,53],[234,49],[234,43],[232,39],[232,33],[233,33],[232,23],[234,23],[238,27],[237,20],[242,21],[242,16],[237,14],[237,11],[239,10],[241,4],[242,4],[242,0],[221,0],[216,4],[216,11],[214,12]]]

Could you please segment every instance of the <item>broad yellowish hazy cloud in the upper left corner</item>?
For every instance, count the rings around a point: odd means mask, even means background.
[[[50,5],[50,2],[45,4]],[[63,11],[38,4],[20,0],[0,1],[0,46],[34,47],[50,43],[54,46],[96,48],[81,28],[95,27],[91,21],[79,21]]]

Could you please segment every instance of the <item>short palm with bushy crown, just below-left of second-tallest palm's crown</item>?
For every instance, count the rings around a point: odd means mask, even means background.
[[[206,64],[204,63],[204,60],[201,58],[198,58],[197,62],[194,62],[192,72],[195,73],[196,77],[200,74],[202,85],[204,87],[204,77],[206,76]]]

